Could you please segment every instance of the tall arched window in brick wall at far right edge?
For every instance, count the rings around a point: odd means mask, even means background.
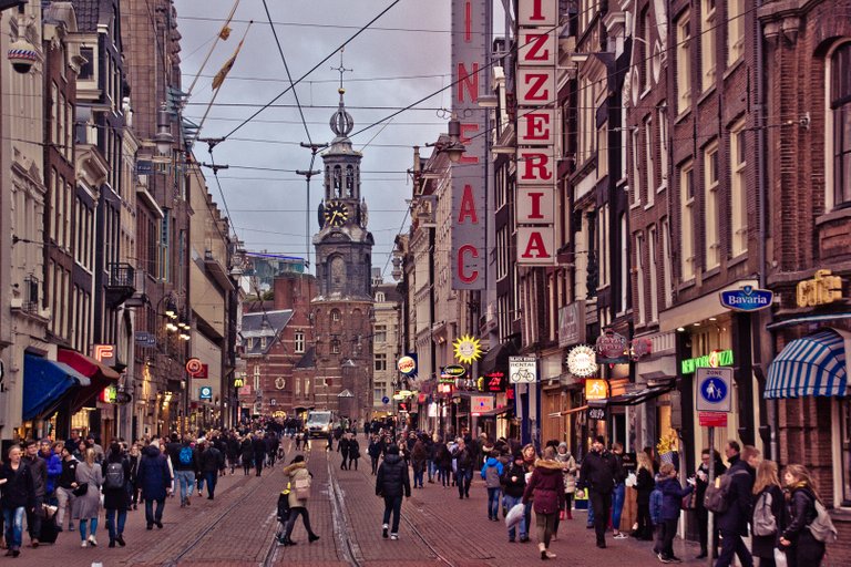
[[[830,55],[828,99],[832,128],[828,128],[828,169],[832,173],[833,208],[851,206],[851,42]],[[832,142],[832,143],[831,143]]]

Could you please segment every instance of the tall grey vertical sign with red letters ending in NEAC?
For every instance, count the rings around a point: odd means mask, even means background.
[[[485,69],[485,2],[452,2],[452,110],[465,152],[452,164],[452,289],[484,289],[484,109],[479,107]]]

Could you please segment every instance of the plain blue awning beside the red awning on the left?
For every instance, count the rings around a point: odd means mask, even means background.
[[[52,413],[74,386],[91,381],[68,364],[32,354],[23,358],[23,420]]]

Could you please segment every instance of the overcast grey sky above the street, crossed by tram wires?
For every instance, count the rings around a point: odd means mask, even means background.
[[[392,0],[266,0],[294,80],[332,53],[358,29],[378,16]],[[183,89],[188,89],[213,44],[233,0],[176,0],[182,39]],[[400,107],[450,82],[449,0],[401,0],[372,27],[349,43],[344,53],[346,106],[355,120],[355,133]],[[236,49],[247,21],[254,20],[245,45],[228,74],[203,126],[202,137],[229,133],[263,104],[284,91],[287,75],[264,10],[263,0],[242,0],[232,35],[219,41],[209,63],[192,92],[184,114],[198,123],[213,91],[212,76]],[[310,136],[315,143],[334,137],[328,122],[338,103],[339,54],[321,64],[296,85]],[[215,147],[232,224],[249,250],[267,250],[305,257],[306,230],[318,231],[317,206],[322,197],[322,178],[310,187],[309,229],[306,228],[306,183],[295,169],[308,169],[310,152],[300,147],[307,133],[300,122],[293,93]],[[236,104],[236,105],[235,105]],[[447,118],[439,109],[450,106],[443,91],[418,109],[407,111],[389,124],[353,135],[356,150],[363,152],[362,195],[369,204],[369,229],[375,236],[373,267],[387,266],[393,238],[406,218],[406,198],[411,185],[412,146],[434,142],[445,131]],[[365,147],[366,146],[366,147]],[[428,153],[428,152],[424,152]],[[197,144],[196,157],[209,163],[206,144]],[[239,166],[239,167],[237,167]],[[315,169],[321,169],[317,157]],[[275,171],[283,169],[283,171]],[[209,169],[209,189],[222,197]],[[404,223],[407,229],[408,221]],[[310,245],[311,260],[314,256]],[[311,272],[315,272],[311,266]]]

